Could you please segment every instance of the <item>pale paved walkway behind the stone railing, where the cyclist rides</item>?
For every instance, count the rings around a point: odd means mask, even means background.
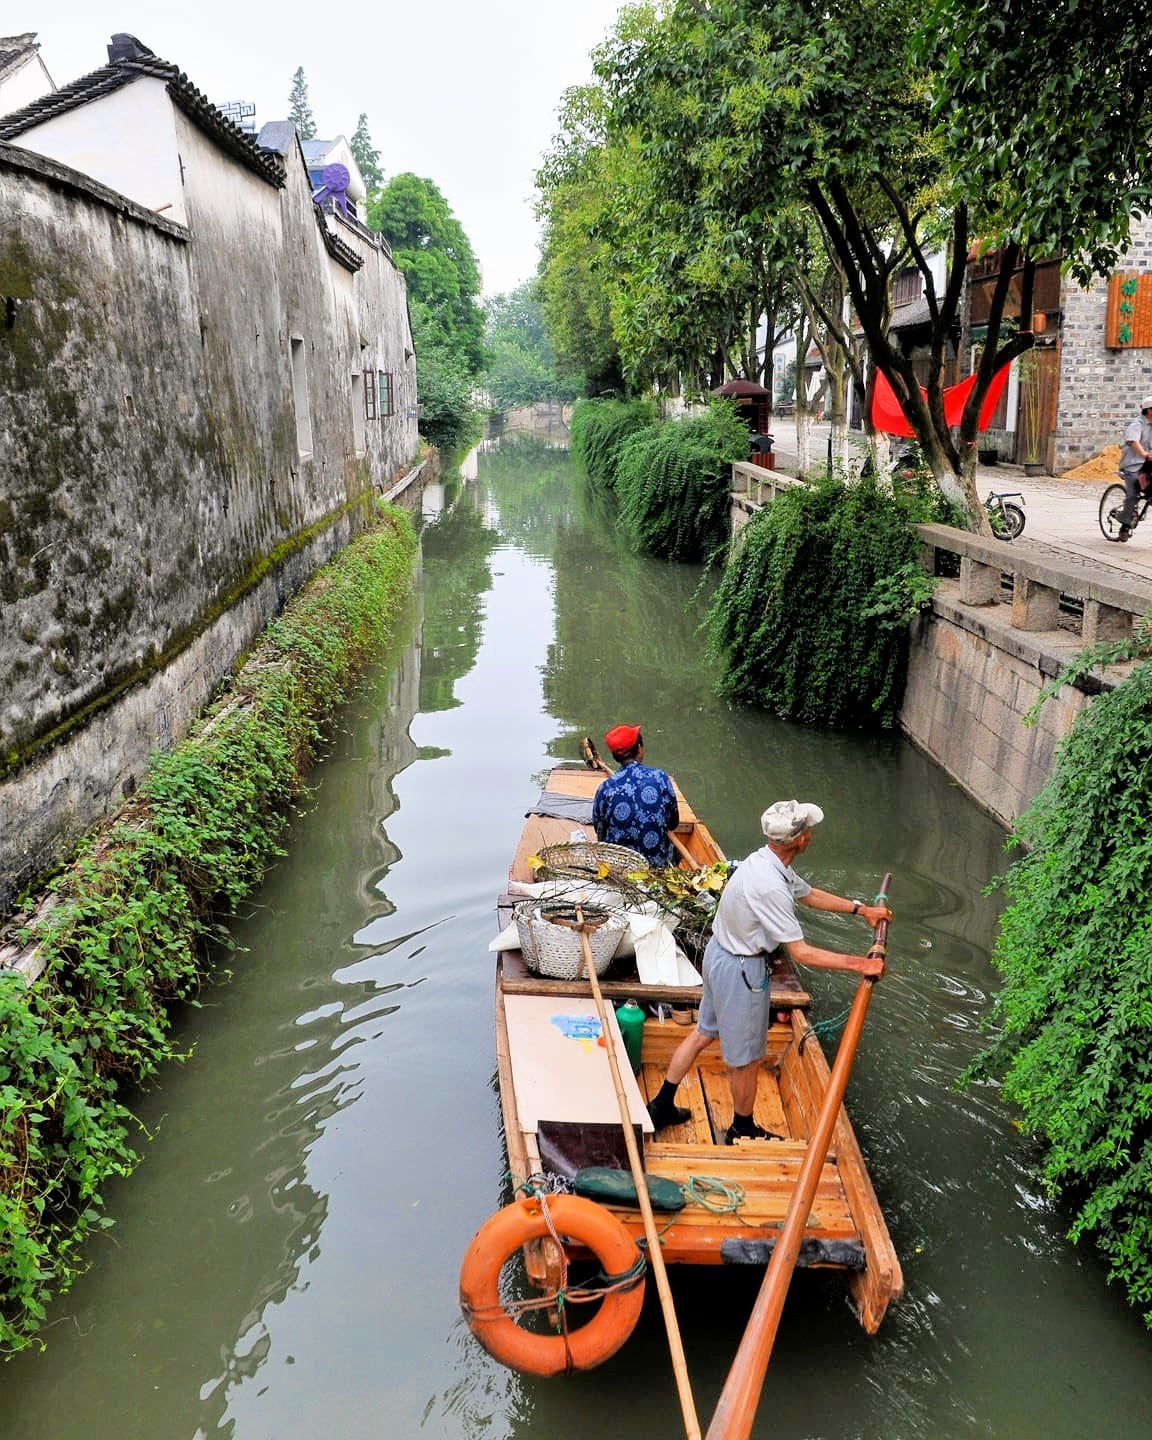
[[[795,422],[773,416],[772,433],[780,458],[795,456]],[[827,425],[812,426],[814,458],[827,454],[828,433]],[[863,446],[863,438],[860,444]],[[1126,544],[1104,540],[1100,533],[1100,495],[1112,484],[1110,480],[1057,480],[1051,475],[1028,480],[1018,465],[979,465],[976,477],[981,498],[989,490],[1018,490],[1024,495],[1028,521],[1015,541],[1018,546],[1050,556],[1068,556],[1081,564],[1096,566],[1102,573],[1152,580],[1152,517]]]

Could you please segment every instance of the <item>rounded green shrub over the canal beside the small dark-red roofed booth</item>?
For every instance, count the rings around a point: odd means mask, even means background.
[[[732,462],[747,458],[747,426],[730,403],[636,431],[619,446],[621,523],[636,550],[703,560],[729,539]]]

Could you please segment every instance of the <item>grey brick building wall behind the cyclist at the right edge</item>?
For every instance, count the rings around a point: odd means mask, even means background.
[[[1152,219],[1133,222],[1132,248],[1120,268],[1152,271]],[[1066,276],[1061,305],[1061,377],[1051,454],[1057,475],[1104,445],[1119,445],[1140,397],[1152,390],[1152,350],[1104,348],[1107,281],[1081,289]]]

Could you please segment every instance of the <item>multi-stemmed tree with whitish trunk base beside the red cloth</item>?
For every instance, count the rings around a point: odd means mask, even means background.
[[[622,23],[596,73],[612,122],[642,150],[649,183],[691,197],[720,232],[779,232],[782,216],[811,209],[876,367],[940,488],[979,524],[979,409],[995,370],[1031,343],[1027,334],[1001,343],[1008,285],[1025,256],[1018,243],[999,252],[978,377],[953,436],[943,387],[969,251],[986,216],[945,170],[932,75],[910,40],[920,17],[919,0],[672,0]],[[943,287],[932,268],[940,246]],[[930,314],[926,393],[888,336],[890,281],[906,265],[923,275]]]

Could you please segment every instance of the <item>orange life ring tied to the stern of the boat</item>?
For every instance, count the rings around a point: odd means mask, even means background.
[[[552,1233],[549,1220],[563,1240],[590,1250],[605,1276],[625,1276],[638,1269],[639,1260],[639,1247],[624,1224],[603,1205],[579,1195],[527,1197],[484,1221],[461,1266],[461,1309],[490,1355],[528,1375],[563,1375],[602,1365],[632,1333],[644,1305],[641,1270],[635,1284],[609,1290],[599,1310],[579,1329],[536,1335],[517,1325],[500,1297],[500,1272],[521,1246]]]

